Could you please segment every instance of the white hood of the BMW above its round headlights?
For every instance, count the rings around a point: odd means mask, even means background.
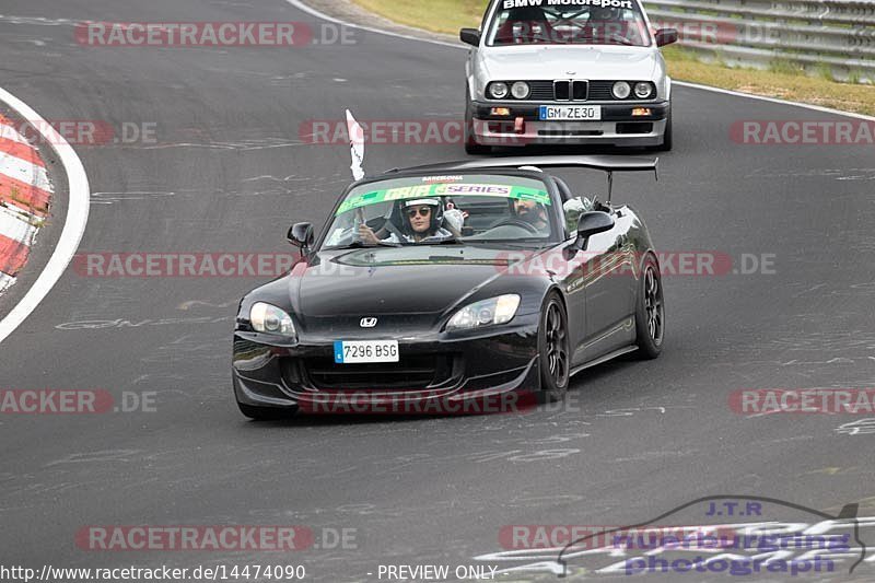
[[[658,53],[651,47],[533,45],[485,47],[485,80],[654,79]]]

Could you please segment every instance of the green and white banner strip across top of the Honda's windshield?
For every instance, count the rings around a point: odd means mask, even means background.
[[[550,196],[546,190],[511,186],[508,184],[418,184],[413,186],[399,186],[385,190],[373,190],[347,198],[337,209],[335,215],[343,214],[359,207],[368,207],[388,200],[405,200],[409,198],[453,196],[487,196],[501,198],[518,198],[534,200],[541,205],[550,205]]]

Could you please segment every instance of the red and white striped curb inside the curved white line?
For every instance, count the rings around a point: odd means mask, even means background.
[[[39,152],[0,115],[0,293],[27,263],[54,193]]]

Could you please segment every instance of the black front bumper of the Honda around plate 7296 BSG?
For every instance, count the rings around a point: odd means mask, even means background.
[[[362,365],[335,364],[335,339],[302,336],[294,346],[281,346],[237,330],[234,393],[244,405],[305,412],[452,413],[462,412],[453,404],[467,401],[498,412],[517,403],[502,395],[540,389],[537,331],[533,314],[479,334],[405,337],[398,339],[400,362]]]

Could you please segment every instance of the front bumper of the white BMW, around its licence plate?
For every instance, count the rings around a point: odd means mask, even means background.
[[[471,135],[483,145],[528,144],[610,144],[660,145],[663,143],[670,105],[668,102],[599,104],[590,102],[551,102],[544,105],[600,105],[597,121],[540,121],[539,105],[513,102],[475,102],[471,105]],[[491,115],[493,107],[508,107],[509,116]],[[646,107],[650,115],[633,116]]]

